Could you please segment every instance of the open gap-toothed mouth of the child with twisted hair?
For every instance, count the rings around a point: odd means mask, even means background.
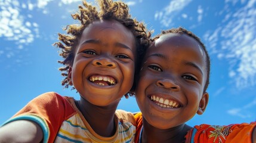
[[[116,80],[112,76],[90,76],[89,80],[97,85],[111,86],[116,84]]]

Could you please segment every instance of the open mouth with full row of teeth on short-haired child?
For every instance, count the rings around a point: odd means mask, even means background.
[[[178,108],[181,106],[177,101],[168,100],[168,99],[165,99],[162,97],[158,97],[156,95],[152,95],[149,98],[150,98],[150,100],[154,101],[155,104],[157,104],[163,108]]]

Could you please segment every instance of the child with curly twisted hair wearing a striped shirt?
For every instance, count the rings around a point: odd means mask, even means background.
[[[62,85],[80,100],[47,92],[30,101],[0,128],[0,142],[133,142],[135,120],[117,110],[134,92],[139,57],[149,45],[143,23],[121,1],[99,0],[99,10],[83,1],[61,42]]]

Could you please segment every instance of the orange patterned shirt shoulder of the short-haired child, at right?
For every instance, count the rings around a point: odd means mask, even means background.
[[[194,131],[195,136],[192,138],[195,142],[251,142],[255,126],[255,122],[227,126],[202,124],[195,126],[189,133]]]

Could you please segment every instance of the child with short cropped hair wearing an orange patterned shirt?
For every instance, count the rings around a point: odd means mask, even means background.
[[[136,100],[135,142],[256,142],[256,122],[229,126],[186,122],[208,104],[210,60],[201,40],[183,28],[153,39],[144,57]]]

